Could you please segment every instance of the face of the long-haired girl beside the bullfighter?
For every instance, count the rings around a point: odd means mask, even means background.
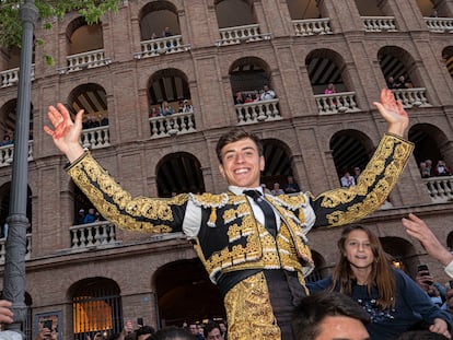
[[[345,256],[352,271],[370,271],[374,261],[374,255],[370,238],[364,231],[355,230],[345,239]]]

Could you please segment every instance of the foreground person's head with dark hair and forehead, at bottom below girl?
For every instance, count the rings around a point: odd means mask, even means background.
[[[318,292],[301,301],[292,316],[297,340],[369,340],[370,316],[355,301],[337,292]]]

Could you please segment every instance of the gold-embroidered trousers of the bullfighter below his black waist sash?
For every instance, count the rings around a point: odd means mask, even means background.
[[[266,279],[262,272],[234,285],[224,305],[230,340],[280,340]]]

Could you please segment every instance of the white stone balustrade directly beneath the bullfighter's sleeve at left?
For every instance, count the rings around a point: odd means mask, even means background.
[[[72,249],[116,244],[115,225],[107,221],[72,225],[69,231]]]

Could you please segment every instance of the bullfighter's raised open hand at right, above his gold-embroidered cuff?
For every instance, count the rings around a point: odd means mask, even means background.
[[[396,101],[393,92],[388,89],[382,89],[381,103],[373,103],[382,117],[388,124],[388,132],[403,137],[409,125],[409,116],[403,108],[400,101]]]

